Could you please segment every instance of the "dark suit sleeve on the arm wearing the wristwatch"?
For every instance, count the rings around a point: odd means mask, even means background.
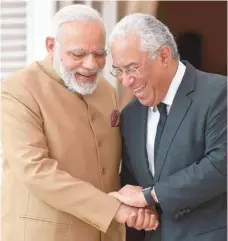
[[[159,204],[168,215],[174,216],[186,208],[197,208],[226,192],[226,86],[223,86],[219,93],[216,92],[207,113],[205,156],[154,186]]]

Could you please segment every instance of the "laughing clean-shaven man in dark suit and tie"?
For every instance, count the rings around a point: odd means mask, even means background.
[[[122,112],[122,184],[128,205],[155,205],[147,241],[226,240],[226,77],[180,62],[169,29],[132,14],[110,36],[112,74],[136,99]],[[129,239],[131,241],[131,239]]]

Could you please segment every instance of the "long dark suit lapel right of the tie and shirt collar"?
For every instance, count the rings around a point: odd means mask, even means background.
[[[156,181],[161,175],[170,145],[192,103],[190,93],[195,89],[195,69],[192,65],[188,63],[185,64],[187,67],[185,75],[174,98],[159,145],[155,163],[154,179]]]

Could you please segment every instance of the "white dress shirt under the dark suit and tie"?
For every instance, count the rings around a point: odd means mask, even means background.
[[[167,114],[169,114],[170,108],[172,106],[174,97],[177,93],[179,85],[182,81],[182,78],[185,73],[185,65],[179,61],[177,72],[169,86],[168,92],[162,101],[162,103],[167,105]],[[157,125],[159,122],[160,114],[157,107],[148,108],[148,117],[147,117],[147,156],[149,161],[149,169],[152,175],[154,176],[154,142],[157,132]]]

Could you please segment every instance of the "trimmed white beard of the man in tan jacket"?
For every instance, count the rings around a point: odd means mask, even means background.
[[[89,95],[89,94],[92,94],[93,91],[97,88],[98,76],[96,80],[92,83],[84,83],[77,80],[75,78],[75,73],[78,72],[78,70],[70,71],[68,68],[66,68],[66,66],[62,63],[60,54],[58,52],[58,48],[54,52],[53,68],[59,74],[59,76],[63,79],[66,87],[73,93],[79,93],[81,95]],[[79,73],[82,71],[80,70]]]

